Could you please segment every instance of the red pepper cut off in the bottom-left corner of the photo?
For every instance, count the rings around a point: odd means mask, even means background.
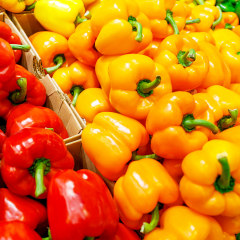
[[[42,240],[27,224],[22,222],[1,222],[1,240]]]

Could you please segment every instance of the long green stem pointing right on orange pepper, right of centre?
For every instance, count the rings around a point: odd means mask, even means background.
[[[197,126],[208,128],[214,134],[217,134],[219,132],[218,127],[209,121],[202,120],[202,119],[195,119],[192,114],[187,114],[186,116],[184,116],[182,121],[182,127],[184,128],[185,131],[191,132],[195,130],[195,127]]]

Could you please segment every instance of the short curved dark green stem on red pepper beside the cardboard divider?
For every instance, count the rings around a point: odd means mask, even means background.
[[[13,104],[23,103],[27,96],[27,79],[19,78],[17,85],[20,87],[20,90],[15,90],[9,94],[9,99]]]

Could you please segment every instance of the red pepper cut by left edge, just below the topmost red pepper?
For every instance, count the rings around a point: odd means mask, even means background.
[[[15,59],[13,50],[6,40],[0,38],[0,89],[2,88],[3,84],[14,79]]]

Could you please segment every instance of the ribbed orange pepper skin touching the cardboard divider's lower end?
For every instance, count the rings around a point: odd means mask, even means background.
[[[117,180],[127,169],[132,152],[148,143],[149,136],[137,120],[118,113],[102,112],[82,132],[84,151],[99,172]]]

